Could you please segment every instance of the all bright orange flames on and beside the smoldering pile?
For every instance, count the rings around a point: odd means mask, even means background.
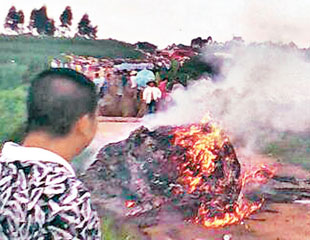
[[[214,172],[218,150],[228,142],[228,138],[221,128],[211,121],[209,114],[203,118],[201,124],[177,127],[173,134],[173,144],[186,149],[186,162],[180,166],[179,181],[189,194],[195,191],[207,192],[209,189],[203,184],[203,178]],[[247,172],[240,179],[241,187],[249,182],[265,183],[273,174],[274,171],[267,166]],[[223,227],[242,221],[260,209],[262,204],[263,200],[251,203],[240,194],[232,209],[223,209],[220,214],[212,216],[208,206],[201,203],[192,221],[207,228]]]

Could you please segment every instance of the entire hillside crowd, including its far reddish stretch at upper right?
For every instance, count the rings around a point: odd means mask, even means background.
[[[69,68],[83,73],[97,86],[101,97],[100,114],[104,116],[142,117],[165,107],[167,90],[177,79],[167,81],[173,61],[180,66],[197,55],[192,48],[171,45],[163,50],[143,53],[144,59],[106,59],[62,54],[50,59],[51,68]],[[147,73],[147,74],[142,74]],[[170,79],[171,80],[171,79]],[[150,100],[151,99],[151,100]]]

